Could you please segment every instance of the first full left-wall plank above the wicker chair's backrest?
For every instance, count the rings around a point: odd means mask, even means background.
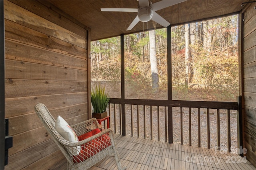
[[[5,79],[6,98],[86,92],[87,82]]]

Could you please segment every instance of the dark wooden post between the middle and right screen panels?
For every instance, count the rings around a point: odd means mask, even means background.
[[[172,101],[172,50],[171,50],[171,25],[167,27],[167,86],[168,101]],[[172,107],[168,107],[168,143],[173,143]]]

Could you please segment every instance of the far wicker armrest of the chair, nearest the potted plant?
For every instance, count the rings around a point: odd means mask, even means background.
[[[72,127],[72,129],[74,129],[77,136],[80,136],[80,135],[83,135],[85,133],[92,131],[93,130],[92,128],[88,128],[91,125],[95,126],[94,129],[99,128],[98,121],[96,120],[96,118],[92,118],[92,119],[80,122],[80,123],[78,123],[76,125],[72,125],[70,127]]]

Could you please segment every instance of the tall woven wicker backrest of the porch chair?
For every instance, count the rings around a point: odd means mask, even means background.
[[[70,158],[68,151],[64,145],[62,145],[61,141],[66,141],[55,129],[55,119],[47,109],[44,104],[36,104],[35,111],[38,117],[41,119],[44,127],[47,131],[52,135],[52,139],[58,145],[64,156],[67,158],[68,162],[72,164],[72,159]]]

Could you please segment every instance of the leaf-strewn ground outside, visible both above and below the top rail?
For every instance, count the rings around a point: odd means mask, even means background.
[[[120,92],[112,91],[111,86],[108,83],[103,83],[106,85],[106,90],[108,91],[111,98],[120,98]],[[194,86],[196,87],[196,86]],[[126,88],[127,90],[127,88]],[[155,98],[150,92],[141,92],[141,94],[147,94],[148,98]],[[126,94],[126,96],[130,96],[129,98],[133,98],[134,92],[130,92]],[[134,98],[138,98],[137,96]],[[166,98],[166,92],[158,92],[158,98],[164,99]],[[180,98],[180,96],[182,96]],[[191,98],[191,99],[190,99]],[[173,100],[197,100],[197,101],[236,101],[236,98],[223,98],[218,96],[218,94],[206,94],[201,92],[197,88],[190,88],[186,95],[180,95],[179,92],[173,94]],[[164,107],[159,107],[159,130],[158,130],[158,111],[157,107],[152,107],[152,138],[158,140],[158,131],[160,133],[160,140],[165,141],[165,132],[168,134],[168,123],[165,124],[165,119],[167,120],[167,115],[165,115]],[[181,140],[181,131],[180,131],[180,107],[173,107],[173,142],[180,143]],[[107,108],[108,111],[108,108]],[[189,145],[189,114],[188,108],[183,108],[183,144]],[[198,146],[198,109],[191,108],[191,132],[192,132],[192,145]],[[210,109],[210,147],[217,147],[217,110]],[[119,105],[116,105],[116,115],[114,115],[114,105],[111,105],[111,127],[114,129],[114,117],[116,117],[116,133],[120,133],[120,111]],[[146,138],[150,139],[151,131],[150,131],[150,106],[146,106]],[[132,117],[132,118],[131,118]],[[131,121],[132,120],[132,121]],[[133,106],[133,115],[131,115],[130,105],[126,106],[126,135],[138,136],[138,127],[137,122],[139,121],[139,136],[144,138],[144,113],[143,106],[139,107],[139,117],[137,117],[137,106]],[[207,119],[206,119],[206,109],[200,109],[200,129],[201,129],[201,147],[207,147]],[[133,124],[133,127],[132,127]],[[133,129],[133,131],[132,131]],[[230,134],[231,134],[231,152],[236,152],[237,148],[237,119],[236,119],[236,110],[230,111]],[[168,140],[168,136],[167,136]],[[227,150],[227,118],[226,118],[226,110],[220,110],[220,148],[221,150]]]

